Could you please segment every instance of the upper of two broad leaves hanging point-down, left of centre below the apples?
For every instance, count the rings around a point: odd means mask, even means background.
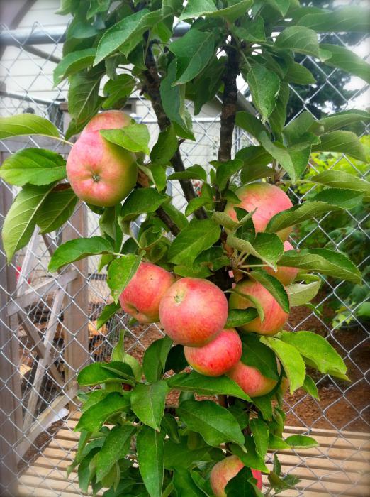
[[[131,392],[131,409],[139,420],[159,432],[168,386],[165,381],[138,383]]]

